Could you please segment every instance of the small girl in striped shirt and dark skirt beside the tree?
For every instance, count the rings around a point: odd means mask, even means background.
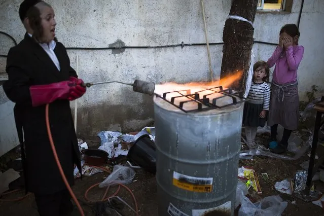
[[[256,148],[255,137],[258,126],[264,127],[266,116],[269,111],[270,87],[269,66],[265,61],[258,61],[253,66],[254,76],[247,99],[244,104],[243,124],[245,126],[245,136],[250,149]]]

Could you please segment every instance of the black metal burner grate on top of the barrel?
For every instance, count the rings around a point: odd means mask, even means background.
[[[208,93],[207,93],[208,92]],[[178,94],[177,96],[172,96],[170,99],[167,99],[167,96],[170,94]],[[217,96],[215,96],[217,94]],[[238,103],[244,102],[246,99],[243,97],[242,92],[234,91],[233,89],[224,89],[223,86],[213,87],[197,91],[194,94],[191,93],[191,90],[179,90],[179,91],[170,91],[165,92],[163,95],[155,94],[157,97],[162,98],[163,100],[169,102],[170,104],[176,106],[178,109],[184,111],[185,113],[190,112],[201,112],[212,109],[223,109],[224,107],[235,105]],[[228,99],[227,104],[218,105],[218,101],[223,99]],[[180,99],[181,101],[176,103],[176,100]],[[185,109],[184,105],[188,103],[196,103],[197,106],[194,109]]]

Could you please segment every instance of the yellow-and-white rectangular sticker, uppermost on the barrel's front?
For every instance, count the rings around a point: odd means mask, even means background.
[[[213,178],[194,177],[173,171],[173,185],[183,190],[210,193]]]

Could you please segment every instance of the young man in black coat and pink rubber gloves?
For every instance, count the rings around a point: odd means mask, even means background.
[[[86,89],[71,68],[65,47],[55,38],[56,22],[51,6],[43,1],[24,1],[19,16],[27,32],[8,53],[9,80],[3,88],[15,102],[17,131],[20,142],[24,142],[26,191],[34,193],[40,215],[70,215],[73,205],[51,150],[45,106],[50,103],[49,120],[55,148],[72,186],[74,165],[82,172],[69,101],[81,97]]]

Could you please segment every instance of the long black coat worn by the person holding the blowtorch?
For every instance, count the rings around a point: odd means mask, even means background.
[[[60,62],[59,71],[48,54],[26,33],[11,48],[6,71],[9,80],[3,85],[8,98],[15,104],[14,115],[19,134],[23,128],[26,167],[26,190],[48,194],[65,189],[54,160],[45,122],[45,105],[32,107],[29,87],[51,84],[77,77],[71,68],[65,47],[57,42],[54,52]],[[49,120],[58,158],[70,185],[74,184],[74,164],[81,173],[80,152],[68,100],[49,105]],[[23,155],[22,155],[23,157]]]

